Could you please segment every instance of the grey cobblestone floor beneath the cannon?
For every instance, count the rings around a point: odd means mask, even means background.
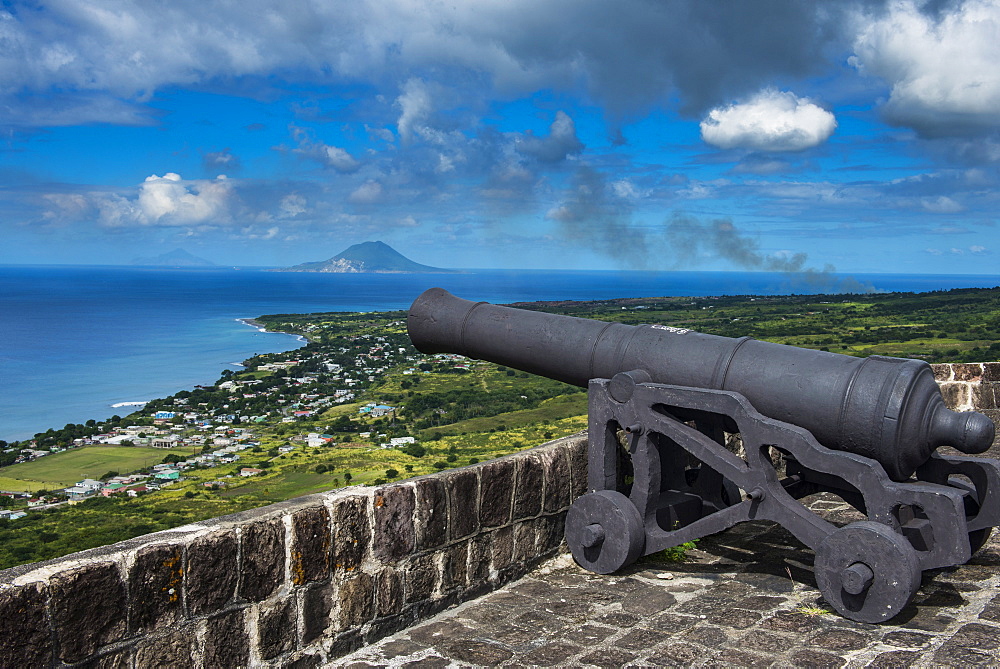
[[[828,517],[853,520],[830,501]],[[1000,541],[924,574],[891,623],[833,614],[812,552],[783,528],[744,523],[683,563],[645,558],[598,576],[563,555],[331,666],[986,666],[1000,664]]]

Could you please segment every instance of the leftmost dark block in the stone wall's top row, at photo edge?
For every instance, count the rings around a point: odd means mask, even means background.
[[[0,667],[52,664],[45,590],[37,583],[0,590]]]

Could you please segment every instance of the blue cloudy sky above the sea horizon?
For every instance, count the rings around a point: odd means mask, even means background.
[[[997,274],[1000,0],[0,2],[0,264]]]

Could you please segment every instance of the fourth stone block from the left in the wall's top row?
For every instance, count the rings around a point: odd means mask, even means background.
[[[184,587],[191,615],[215,613],[232,600],[240,575],[237,552],[232,531],[209,534],[188,545]]]

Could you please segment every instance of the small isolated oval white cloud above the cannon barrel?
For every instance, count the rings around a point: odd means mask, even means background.
[[[701,122],[701,136],[723,149],[801,151],[825,142],[837,121],[806,98],[773,88],[747,102],[713,109]]]

